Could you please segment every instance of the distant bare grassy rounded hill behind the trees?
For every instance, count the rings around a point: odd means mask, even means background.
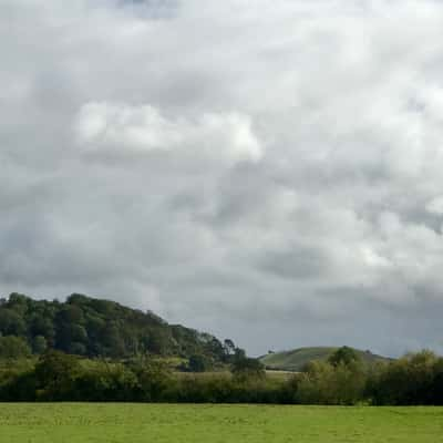
[[[259,358],[267,369],[281,371],[301,371],[306,363],[312,360],[327,360],[338,348],[299,348],[291,351],[272,352]],[[362,361],[372,364],[379,361],[390,361],[391,359],[377,356],[370,351],[356,349]]]

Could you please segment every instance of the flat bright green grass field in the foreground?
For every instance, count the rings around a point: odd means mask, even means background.
[[[1,443],[437,443],[443,408],[0,404]]]

